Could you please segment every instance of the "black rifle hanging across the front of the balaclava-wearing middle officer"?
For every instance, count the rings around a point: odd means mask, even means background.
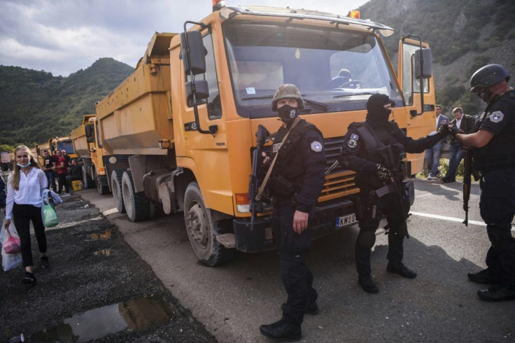
[[[399,212],[402,221],[406,221],[408,218],[408,209],[406,208],[406,202],[404,202],[405,190],[404,183],[402,183],[404,175],[400,173],[399,168],[395,167],[397,166],[397,163],[400,162],[400,156],[395,160],[391,146],[383,146],[382,148],[379,148],[378,151],[386,161],[385,167],[387,167],[388,170],[390,170],[390,174],[392,174],[393,182],[391,185],[393,186],[393,199],[397,206],[397,211]],[[398,233],[400,235],[404,234],[406,238],[409,238],[408,225],[401,225],[401,228],[404,228],[404,232]]]

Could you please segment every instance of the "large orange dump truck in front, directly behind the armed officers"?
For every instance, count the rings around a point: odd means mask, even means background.
[[[381,41],[393,33],[385,25],[313,10],[215,7],[200,22],[186,22],[182,34],[155,34],[134,73],[97,103],[118,209],[131,221],[182,211],[206,265],[229,260],[234,249],[273,248],[267,204],[251,225],[248,183],[258,126],[276,132],[281,125],[271,111],[278,85],[301,90],[301,117],[323,133],[327,169],[348,124],[365,120],[371,94],[395,101],[395,120],[411,137],[435,125],[430,50],[417,37],[400,41],[396,76]],[[341,69],[351,82],[331,83]],[[415,174],[423,155],[408,155],[405,163]],[[332,169],[312,237],[353,225],[358,192],[353,172]]]

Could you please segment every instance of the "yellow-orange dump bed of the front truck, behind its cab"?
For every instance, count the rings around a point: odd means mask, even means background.
[[[97,102],[102,146],[110,154],[166,155],[160,139],[173,139],[170,41],[155,33],[131,76]]]

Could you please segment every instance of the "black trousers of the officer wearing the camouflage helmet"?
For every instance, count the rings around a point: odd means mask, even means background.
[[[313,216],[313,211],[309,218]],[[281,280],[288,294],[283,307],[283,320],[301,325],[306,309],[316,301],[313,274],[306,266],[306,253],[311,248],[311,237],[306,229],[301,234],[293,231],[295,204],[291,200],[274,201],[272,229],[280,259]]]

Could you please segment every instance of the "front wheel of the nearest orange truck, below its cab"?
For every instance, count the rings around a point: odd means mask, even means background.
[[[234,249],[225,248],[216,239],[224,233],[223,223],[211,221],[210,211],[204,206],[204,199],[196,182],[190,183],[186,188],[184,222],[193,251],[204,265],[213,267],[233,258]]]

